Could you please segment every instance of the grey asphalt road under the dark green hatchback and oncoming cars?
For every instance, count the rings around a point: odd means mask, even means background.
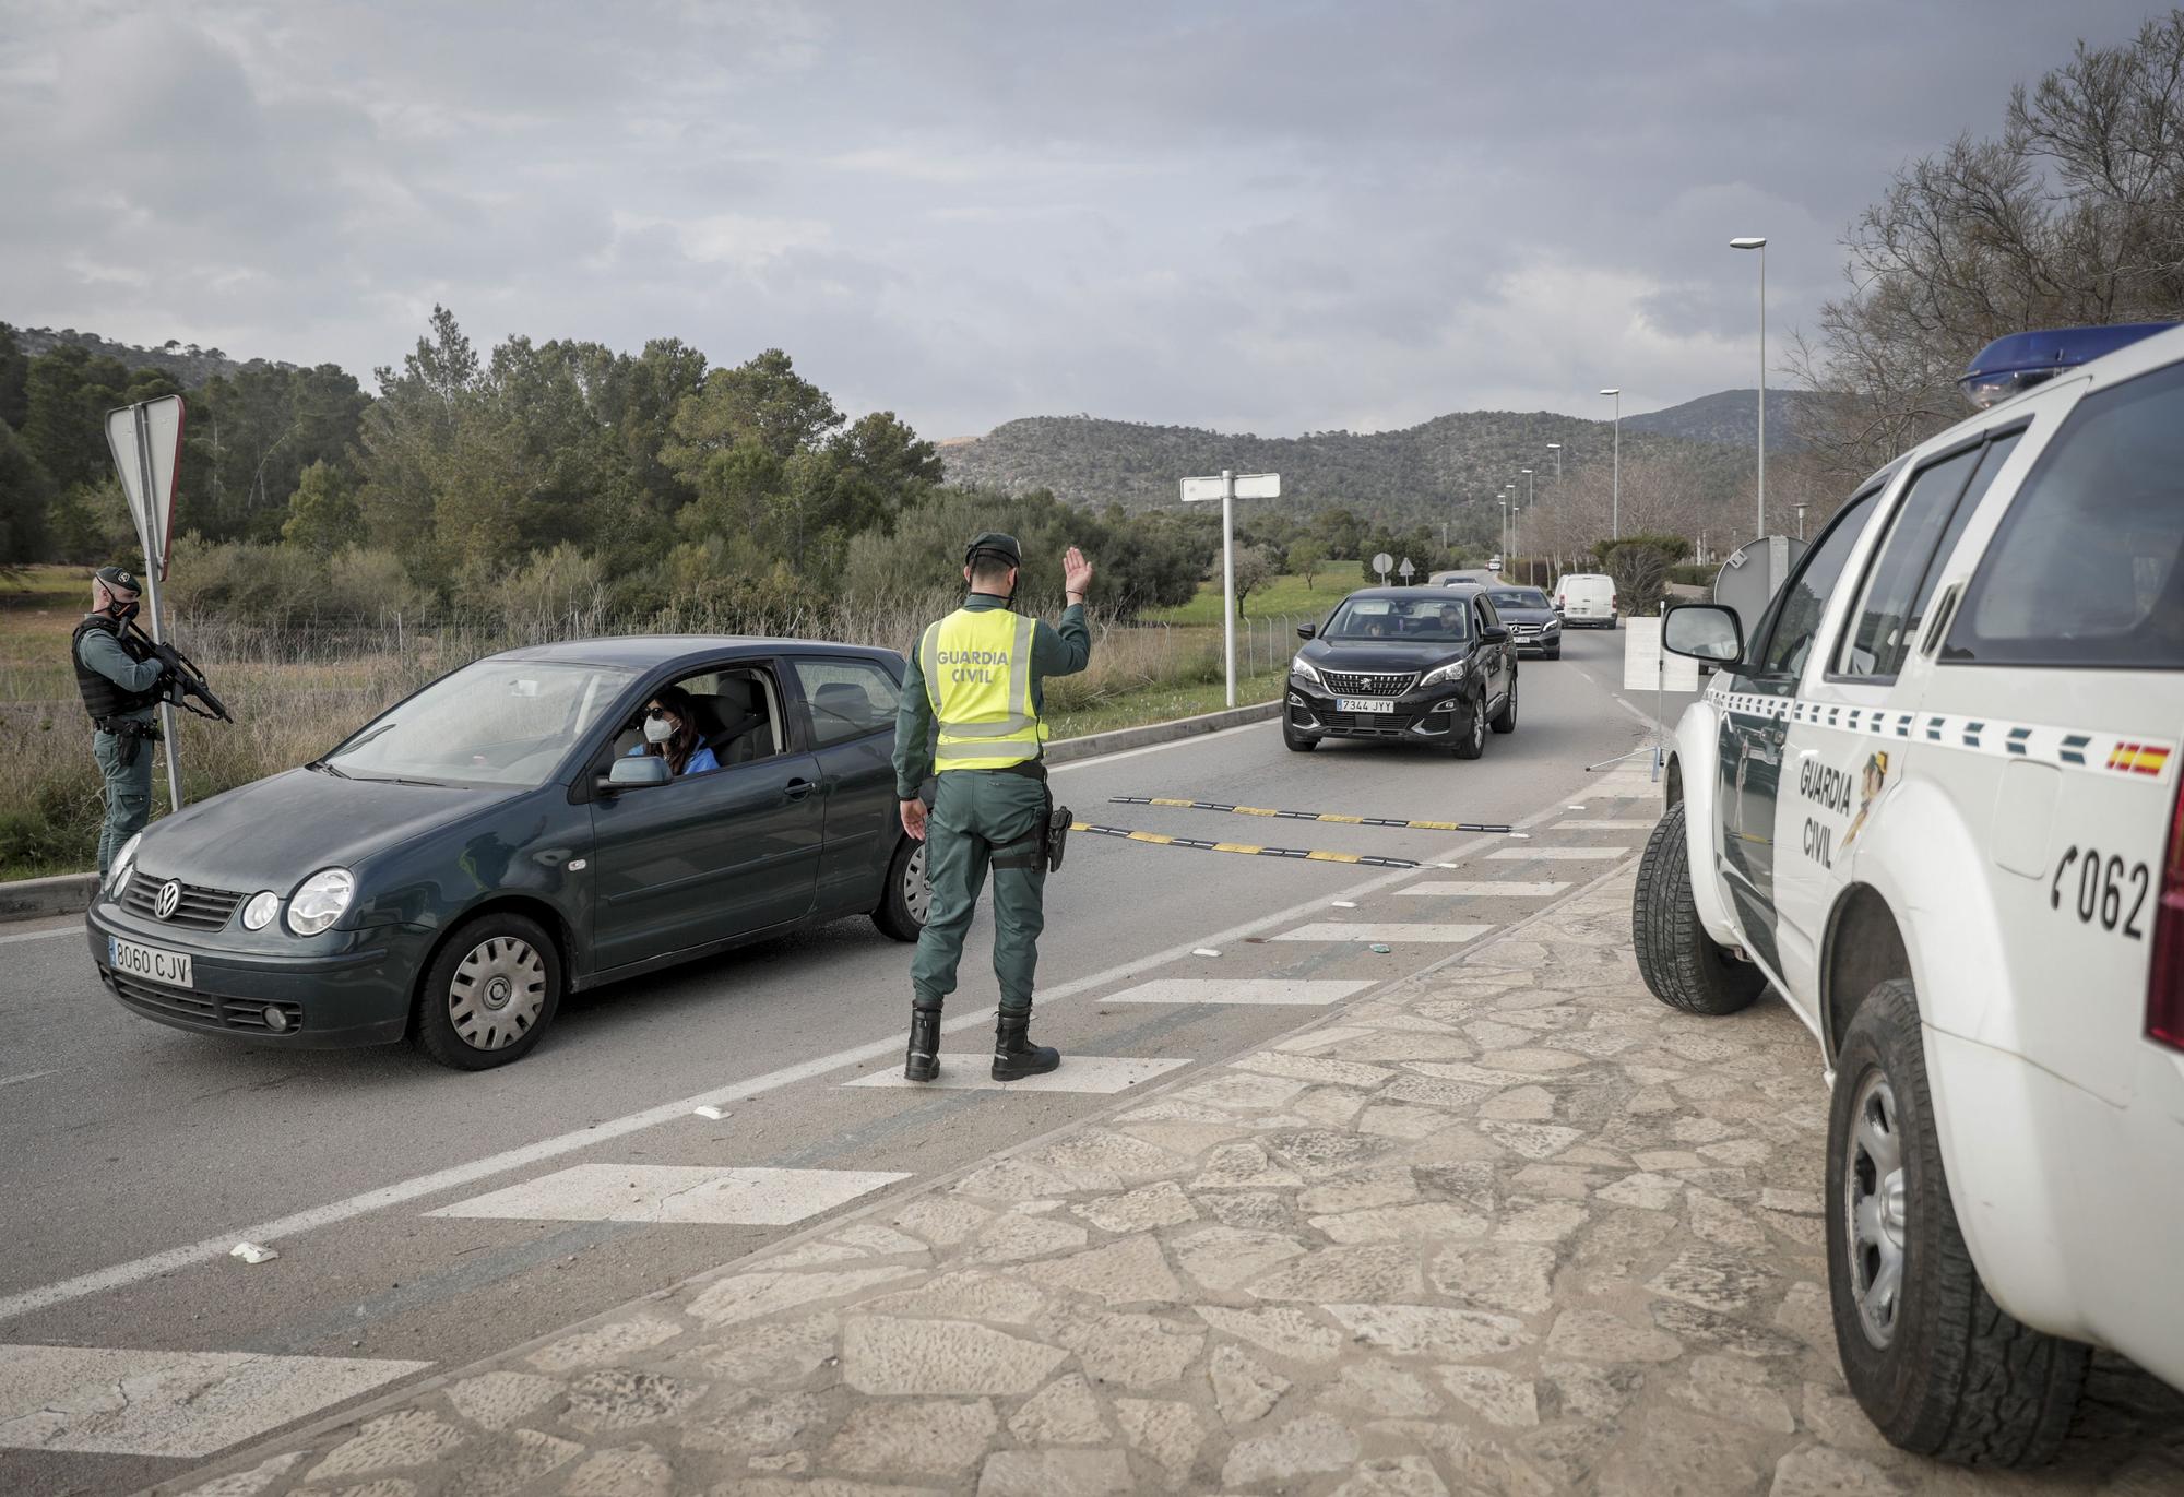
[[[1284,978],[1367,991],[1444,960],[1463,932],[1520,919],[1612,864],[1503,858],[1470,873],[1527,842],[1109,797],[1568,818],[1566,805],[1583,803],[1586,766],[1647,733],[1640,707],[1651,698],[1618,696],[1621,648],[1623,635],[1575,635],[1562,661],[1527,661],[1518,731],[1470,764],[1365,744],[1295,755],[1273,724],[1258,724],[1057,768],[1057,799],[1085,821],[1452,862],[1468,873],[1446,879],[1492,871],[1538,890],[1376,901],[1417,875],[1077,838],[1048,884],[1035,1034],[1079,1058],[1057,1080],[1099,1091],[845,1085],[902,1063],[909,954],[867,921],[579,995],[535,1054],[476,1076],[404,1047],[275,1052],[173,1032],[105,995],[74,925],[0,932],[11,1019],[0,1034],[0,1488],[133,1490],[367,1390],[666,1288],[828,1209],[869,1202],[869,1191],[1107,1106],[1120,1085],[1234,1056],[1302,1017],[1289,1004],[1151,1002],[1173,991],[1149,997],[1147,982]],[[1669,698],[1671,720],[1679,705]],[[1629,851],[1636,836],[1583,840]],[[1404,919],[1441,923],[1446,941],[1378,954],[1295,938],[1302,923],[1352,919],[1337,899],[1365,903],[1358,919],[1402,906]],[[987,941],[981,914],[950,1004],[952,1076],[983,1074]],[[699,1104],[725,1117],[699,1117]],[[245,1237],[280,1257],[229,1257]],[[22,1351],[50,1346],[111,1355]],[[266,1364],[282,1384],[271,1403],[234,1394],[234,1408],[201,1408],[186,1432],[164,1436],[55,1436],[70,1414],[26,1403],[31,1373],[7,1397],[11,1355],[17,1368],[50,1370],[61,1357],[70,1377],[98,1366],[127,1384],[177,1364],[162,1353],[295,1362]],[[26,1449],[70,1442],[87,1449]]]

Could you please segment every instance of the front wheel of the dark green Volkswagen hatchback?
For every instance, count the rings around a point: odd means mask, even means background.
[[[537,921],[480,914],[424,973],[417,1047],[459,1071],[522,1061],[561,1006],[561,954]]]

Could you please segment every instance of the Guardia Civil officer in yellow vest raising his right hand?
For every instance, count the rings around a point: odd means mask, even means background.
[[[926,628],[902,683],[895,716],[895,797],[902,829],[926,845],[933,901],[911,958],[911,1050],[902,1074],[939,1076],[941,1004],[954,993],[963,932],[987,869],[994,871],[994,975],[1000,1021],[994,1080],[1037,1076],[1061,1054],[1031,1043],[1031,980],[1046,927],[1046,829],[1053,799],[1040,762],[1046,676],[1072,676],[1092,659],[1083,598],[1092,563],[1075,546],[1061,556],[1068,609],[1059,624],[1011,611],[1024,554],[1016,537],[987,530],[963,554],[970,596]],[[933,814],[919,799],[939,773]]]

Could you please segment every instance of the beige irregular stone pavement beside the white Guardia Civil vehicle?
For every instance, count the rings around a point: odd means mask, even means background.
[[[1675,1015],[1629,871],[1422,982],[194,1497],[2184,1493],[2108,1364],[2033,1475],[1843,1390],[1819,1052]]]

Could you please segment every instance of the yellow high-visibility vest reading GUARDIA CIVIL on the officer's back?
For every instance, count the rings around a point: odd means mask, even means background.
[[[1031,705],[1037,620],[1007,609],[957,609],[926,628],[917,666],[939,722],[937,770],[1002,770],[1040,757],[1046,727]]]

